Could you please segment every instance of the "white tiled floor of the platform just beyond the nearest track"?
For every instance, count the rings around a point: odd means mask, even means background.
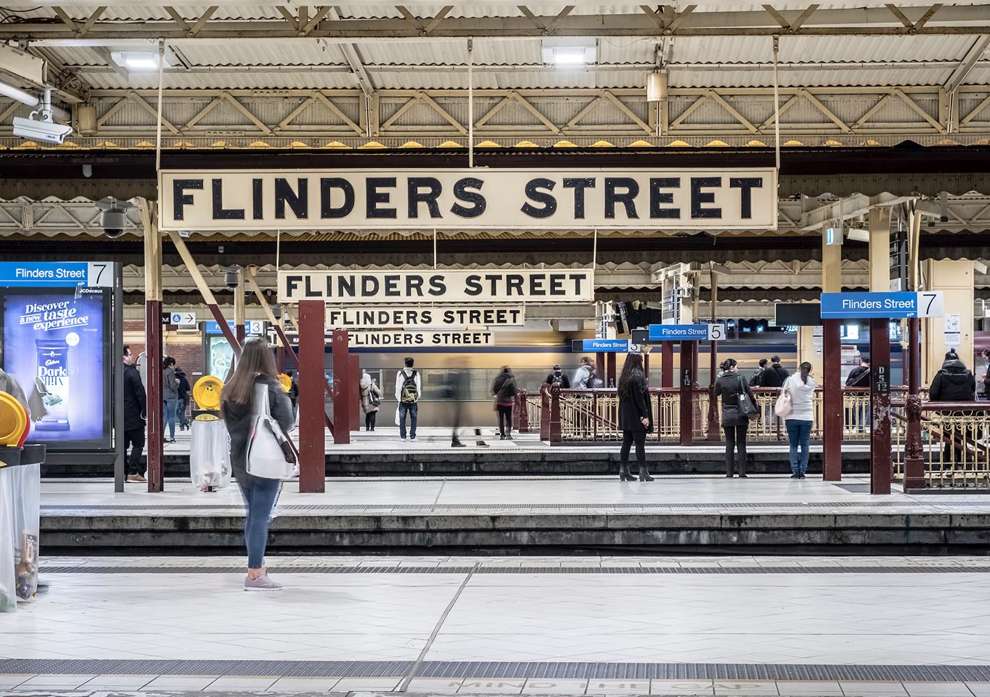
[[[331,478],[321,494],[300,494],[298,482],[287,482],[279,499],[279,515],[306,515],[306,506],[347,506],[342,514],[361,513],[361,507],[376,511],[391,506],[416,505],[438,512],[445,507],[463,509],[470,506],[504,505],[511,510],[547,510],[546,506],[573,512],[594,512],[596,506],[619,504],[624,511],[637,513],[637,504],[644,510],[655,510],[656,504],[698,505],[708,511],[718,510],[720,504],[764,505],[761,510],[804,507],[827,513],[827,504],[836,504],[836,511],[848,512],[850,504],[884,512],[986,512],[990,496],[924,494],[906,495],[896,486],[885,496],[868,493],[869,478],[865,475],[843,477],[839,484],[824,482],[820,477],[804,480],[786,475],[750,475],[747,479],[727,479],[720,475],[659,476],[653,482],[622,483],[614,476],[587,477],[376,477]],[[775,504],[767,509],[765,504]],[[814,509],[809,508],[814,504]],[[878,506],[876,504],[883,504]],[[893,505],[891,505],[893,504]],[[124,493],[113,490],[110,479],[45,479],[42,482],[42,514],[73,515],[75,506],[99,506],[100,509],[80,509],[75,515],[110,515],[114,506],[127,506],[129,512],[163,511],[169,507],[185,515],[229,515],[230,509],[243,509],[241,495],[232,484],[212,493],[198,491],[188,479],[167,479],[165,491],[148,493],[147,485],[129,483]],[[288,510],[287,507],[300,507]],[[202,508],[199,508],[202,507]],[[409,510],[406,508],[405,510]],[[684,510],[684,509],[678,509]],[[469,513],[469,511],[468,511]]]

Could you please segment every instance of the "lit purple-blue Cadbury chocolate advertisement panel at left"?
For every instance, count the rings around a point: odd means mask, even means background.
[[[111,447],[111,300],[106,287],[0,288],[7,391],[27,404],[29,443]]]

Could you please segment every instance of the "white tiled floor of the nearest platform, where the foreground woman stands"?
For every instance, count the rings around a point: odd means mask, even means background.
[[[245,593],[233,557],[43,558],[49,593],[0,615],[0,659],[605,661],[706,664],[988,665],[987,557],[275,557],[281,593]],[[520,566],[507,573],[371,567]],[[296,573],[349,564],[353,573]],[[799,573],[541,572],[568,564],[784,566]],[[925,564],[956,572],[891,571]],[[368,572],[360,572],[366,565]],[[838,572],[836,566],[875,567]],[[172,573],[169,567],[220,566]],[[158,572],[148,572],[148,567]],[[972,572],[965,568],[973,568]],[[227,569],[230,569],[228,571]],[[81,571],[82,569],[80,569]],[[804,572],[807,571],[807,572]],[[274,572],[273,572],[274,575]],[[465,582],[466,581],[466,582]],[[462,590],[457,595],[458,589]],[[455,600],[454,600],[455,599]],[[446,613],[446,614],[445,614]],[[217,683],[217,679],[223,680]],[[239,675],[0,675],[44,688],[389,690],[401,675],[302,683]],[[281,681],[281,682],[279,682]],[[546,685],[545,683],[551,683]],[[240,683],[240,686],[239,686]],[[804,685],[773,680],[421,678],[410,692],[990,697],[961,682]],[[561,684],[557,684],[561,683]],[[573,684],[572,684],[573,683]],[[632,683],[632,684],[630,684]],[[655,684],[654,684],[655,683]],[[786,683],[786,684],[785,684]]]

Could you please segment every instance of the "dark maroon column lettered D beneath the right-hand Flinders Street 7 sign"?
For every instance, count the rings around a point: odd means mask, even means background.
[[[869,492],[889,494],[893,464],[890,451],[890,320],[869,321]]]

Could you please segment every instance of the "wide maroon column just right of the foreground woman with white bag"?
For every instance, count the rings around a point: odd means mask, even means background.
[[[324,314],[322,300],[299,301],[299,491],[325,490]],[[342,429],[338,429],[341,431]]]

